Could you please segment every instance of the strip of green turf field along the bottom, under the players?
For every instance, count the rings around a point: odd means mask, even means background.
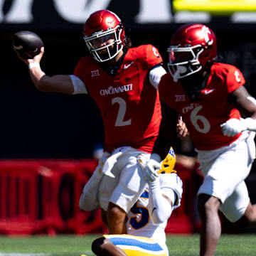
[[[26,238],[0,236],[0,256],[87,256],[95,235],[33,236]],[[171,235],[167,239],[170,256],[198,255],[198,235]],[[256,235],[222,235],[216,255],[256,255]]]

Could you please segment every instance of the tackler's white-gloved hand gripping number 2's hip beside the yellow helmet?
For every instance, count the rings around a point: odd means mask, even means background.
[[[161,169],[161,157],[159,154],[151,154],[150,159],[147,161],[139,161],[140,166],[142,167],[142,170],[144,172],[144,178],[146,182],[150,183],[152,181],[155,181],[156,178],[158,178],[159,170]]]

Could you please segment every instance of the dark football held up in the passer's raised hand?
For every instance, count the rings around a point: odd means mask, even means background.
[[[31,31],[19,31],[15,33],[12,43],[16,53],[24,59],[33,58],[38,55],[41,47],[43,47],[42,39]]]

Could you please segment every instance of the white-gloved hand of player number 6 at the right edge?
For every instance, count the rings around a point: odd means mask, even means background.
[[[233,137],[242,131],[255,131],[256,120],[250,117],[246,119],[231,118],[227,122],[220,124],[221,130],[225,136]]]

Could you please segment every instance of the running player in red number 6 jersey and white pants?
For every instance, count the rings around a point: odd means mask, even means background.
[[[207,26],[181,26],[167,51],[169,73],[161,78],[159,95],[182,115],[198,152],[204,175],[198,190],[200,255],[214,255],[221,233],[218,210],[242,227],[256,222],[256,206],[245,185],[255,159],[256,100],[243,86],[238,68],[215,62],[216,38]],[[152,154],[159,159],[168,151],[161,143],[168,134],[165,118]],[[159,169],[155,159],[146,167],[152,176]]]

